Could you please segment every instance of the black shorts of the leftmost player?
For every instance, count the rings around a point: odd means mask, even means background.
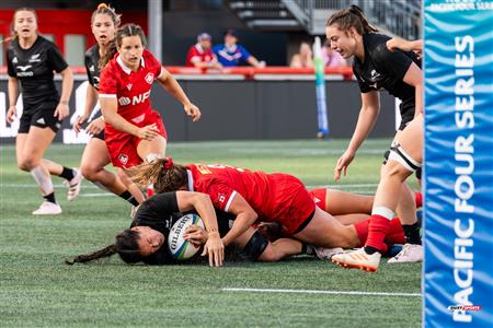
[[[58,102],[46,102],[38,108],[24,107],[19,125],[19,133],[27,133],[31,126],[50,128],[55,133],[61,128],[61,120],[53,116]]]

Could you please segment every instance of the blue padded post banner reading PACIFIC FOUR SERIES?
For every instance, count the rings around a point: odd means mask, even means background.
[[[493,0],[424,1],[425,327],[493,327]]]

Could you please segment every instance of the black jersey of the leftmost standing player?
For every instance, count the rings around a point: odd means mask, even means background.
[[[46,99],[58,101],[53,71],[59,73],[67,67],[57,46],[39,35],[31,48],[22,49],[15,38],[7,51],[9,77],[20,81],[22,99],[27,109],[43,105]]]

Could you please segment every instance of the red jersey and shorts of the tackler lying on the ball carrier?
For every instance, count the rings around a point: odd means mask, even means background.
[[[279,222],[288,233],[296,233],[314,212],[313,199],[303,184],[291,175],[228,165],[191,164],[186,167],[188,189],[209,195],[213,204],[226,212],[240,194],[259,220]]]

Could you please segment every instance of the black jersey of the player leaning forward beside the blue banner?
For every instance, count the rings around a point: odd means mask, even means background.
[[[363,35],[365,62],[355,57],[353,72],[362,93],[385,89],[401,99],[405,108],[414,110],[415,90],[414,86],[406,84],[403,78],[412,62],[421,68],[421,60],[413,51],[395,50],[391,52],[387,48],[389,39],[389,36],[382,34]],[[414,115],[414,112],[412,114]]]

